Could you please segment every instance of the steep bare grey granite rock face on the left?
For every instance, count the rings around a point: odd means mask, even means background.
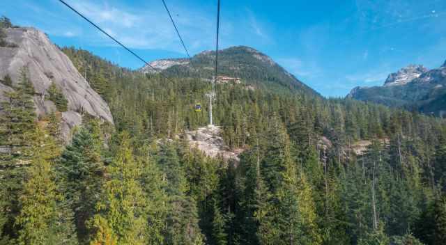
[[[38,116],[56,109],[47,100],[47,89],[55,84],[68,100],[68,111],[63,112],[61,127],[65,139],[70,129],[82,122],[82,113],[113,123],[107,103],[45,33],[33,28],[10,28],[6,29],[6,34],[6,40],[16,47],[0,47],[0,78],[8,74],[15,86],[20,81],[21,71],[26,71],[36,90],[34,102]],[[0,86],[0,96],[10,89]]]

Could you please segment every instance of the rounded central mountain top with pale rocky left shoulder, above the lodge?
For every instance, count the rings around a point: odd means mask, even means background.
[[[219,50],[220,76],[240,78],[244,84],[264,86],[272,90],[291,90],[320,96],[315,90],[299,81],[275,61],[252,47],[237,46]],[[144,73],[162,73],[172,77],[214,76],[215,51],[203,51],[192,58],[169,58],[153,61],[141,68]]]

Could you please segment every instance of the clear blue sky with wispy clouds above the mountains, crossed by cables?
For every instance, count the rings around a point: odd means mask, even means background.
[[[148,61],[185,56],[161,0],[66,1]],[[214,48],[217,0],[166,2],[191,54]],[[0,1],[0,15],[57,45],[143,65],[57,0]],[[446,1],[222,0],[220,44],[259,49],[322,95],[343,97],[408,64],[442,65]]]

